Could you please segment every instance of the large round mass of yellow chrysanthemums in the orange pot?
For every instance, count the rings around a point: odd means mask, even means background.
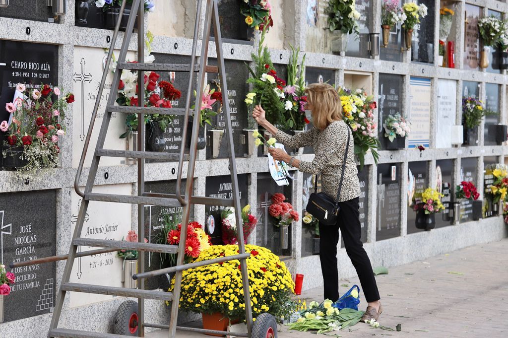
[[[284,304],[291,301],[295,284],[288,268],[270,250],[245,245],[252,313],[276,318],[289,315]],[[238,254],[238,245],[213,245],[196,262]],[[169,291],[174,288],[175,279]],[[245,319],[240,261],[201,266],[182,273],[180,309],[198,313],[221,313],[230,319]]]

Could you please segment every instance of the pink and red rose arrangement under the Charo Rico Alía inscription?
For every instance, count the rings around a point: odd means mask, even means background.
[[[5,107],[10,118],[0,124],[0,131],[7,133],[3,157],[12,156],[12,148],[23,148],[21,158],[26,165],[18,170],[25,172],[57,166],[58,140],[66,134],[66,110],[74,102],[73,94],[63,94],[58,87],[33,88],[18,83],[17,99]]]

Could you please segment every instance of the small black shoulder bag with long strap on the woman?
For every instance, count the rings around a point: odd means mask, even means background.
[[[310,194],[307,207],[305,208],[308,213],[317,218],[323,225],[334,225],[337,223],[337,218],[340,212],[339,198],[340,190],[342,188],[342,179],[344,178],[344,170],[346,167],[347,153],[349,152],[350,134],[347,131],[347,143],[344,155],[344,162],[342,163],[342,174],[339,181],[339,192],[337,199],[333,199],[325,193],[317,192],[317,175],[314,183],[314,192]]]

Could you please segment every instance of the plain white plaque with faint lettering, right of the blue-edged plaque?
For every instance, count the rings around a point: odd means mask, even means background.
[[[439,79],[437,81],[437,133],[436,148],[451,148],[450,130],[455,125],[457,115],[457,81]]]

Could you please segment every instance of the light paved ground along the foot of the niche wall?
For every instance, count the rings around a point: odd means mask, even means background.
[[[341,282],[355,283],[357,279]],[[402,331],[372,329],[359,323],[336,333],[342,337],[508,337],[508,239],[390,268],[389,274],[377,276],[377,283],[384,306],[380,323],[394,328],[400,323]],[[341,292],[344,291],[345,287]],[[322,291],[310,290],[302,297],[320,300]],[[365,308],[365,302],[361,307]],[[168,335],[167,331],[156,331],[146,336]],[[178,333],[182,338],[203,336]],[[281,326],[278,337],[315,338],[316,335],[288,331]]]

